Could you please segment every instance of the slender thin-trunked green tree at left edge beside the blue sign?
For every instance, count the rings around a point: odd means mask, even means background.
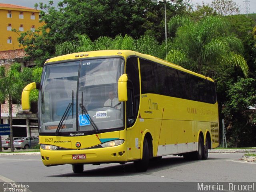
[[[6,100],[9,105],[9,123],[10,123],[10,144],[11,151],[14,152],[13,146],[13,129],[12,129],[12,104],[14,100],[20,102],[21,92],[23,88],[23,83],[20,79],[21,65],[14,63],[11,65],[10,70],[7,73],[4,73],[4,70],[0,70],[0,84],[1,86],[0,95],[1,98]]]

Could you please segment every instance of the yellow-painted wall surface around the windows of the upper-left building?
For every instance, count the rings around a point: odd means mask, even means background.
[[[7,18],[8,11],[11,11],[12,18]],[[19,18],[20,12],[23,12],[23,19]],[[35,16],[34,20],[30,18],[32,12]],[[15,32],[7,30],[8,24],[12,24],[12,29],[16,30],[19,30],[20,25],[23,25],[23,32],[30,30],[32,25],[35,26],[35,29],[42,26],[42,23],[39,22],[39,10],[0,7],[0,51],[23,48],[22,46],[19,46],[17,40],[19,35]],[[11,44],[7,43],[9,37],[12,37]]]

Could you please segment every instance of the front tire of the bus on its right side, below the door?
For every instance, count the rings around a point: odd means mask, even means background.
[[[149,165],[149,147],[148,140],[145,138],[143,142],[142,159],[134,161],[135,169],[139,172],[145,172],[148,170]]]

